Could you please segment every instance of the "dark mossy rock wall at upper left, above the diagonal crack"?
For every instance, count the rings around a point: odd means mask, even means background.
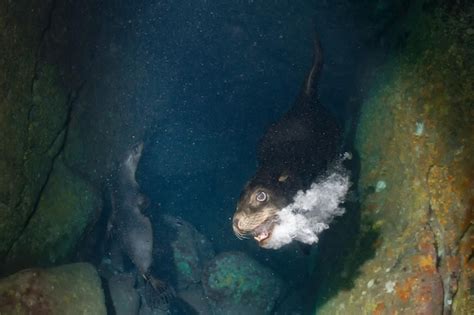
[[[66,141],[95,49],[93,6],[0,1],[0,264],[34,215]]]

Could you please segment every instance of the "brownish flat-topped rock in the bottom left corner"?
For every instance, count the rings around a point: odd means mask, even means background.
[[[0,314],[106,314],[94,267],[28,269],[0,279]]]

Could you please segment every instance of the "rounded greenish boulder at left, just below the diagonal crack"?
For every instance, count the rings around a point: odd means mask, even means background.
[[[94,187],[74,175],[59,158],[36,212],[7,257],[7,265],[18,270],[65,261],[100,205]]]

